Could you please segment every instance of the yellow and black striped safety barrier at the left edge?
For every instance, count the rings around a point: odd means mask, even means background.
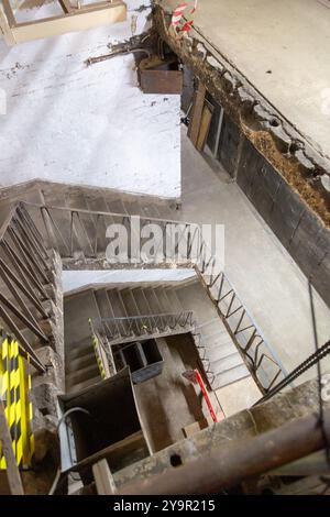
[[[0,344],[0,397],[19,468],[31,466],[34,452],[33,407],[30,399],[30,358],[24,360],[14,338],[6,336]],[[0,470],[6,470],[0,443]]]

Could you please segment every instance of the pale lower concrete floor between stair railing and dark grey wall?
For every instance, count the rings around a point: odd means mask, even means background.
[[[226,267],[266,340],[290,372],[315,352],[307,280],[238,185],[182,134],[186,221],[224,223]],[[330,337],[330,310],[315,294],[319,342]],[[324,364],[323,364],[324,363]],[[323,369],[330,371],[330,360]],[[299,382],[315,377],[310,371]]]

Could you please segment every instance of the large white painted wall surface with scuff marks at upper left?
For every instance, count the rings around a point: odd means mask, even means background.
[[[131,37],[132,16],[135,34],[148,29],[151,0],[127,3],[123,23],[12,48],[0,41],[0,186],[42,178],[179,197],[179,96],[142,94],[132,55],[84,63]]]

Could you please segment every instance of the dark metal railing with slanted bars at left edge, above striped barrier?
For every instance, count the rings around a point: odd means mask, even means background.
[[[40,372],[44,365],[33,350],[35,338],[47,343],[43,301],[52,283],[50,255],[24,204],[15,205],[0,230],[0,319],[12,332],[24,358]]]

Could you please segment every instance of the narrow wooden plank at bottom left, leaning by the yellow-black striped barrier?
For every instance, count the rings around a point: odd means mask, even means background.
[[[0,400],[0,441],[2,443],[2,453],[6,458],[7,463],[7,477],[10,492],[12,495],[24,495],[20,471],[16,465],[16,459],[12,450],[11,437],[2,400]]]

